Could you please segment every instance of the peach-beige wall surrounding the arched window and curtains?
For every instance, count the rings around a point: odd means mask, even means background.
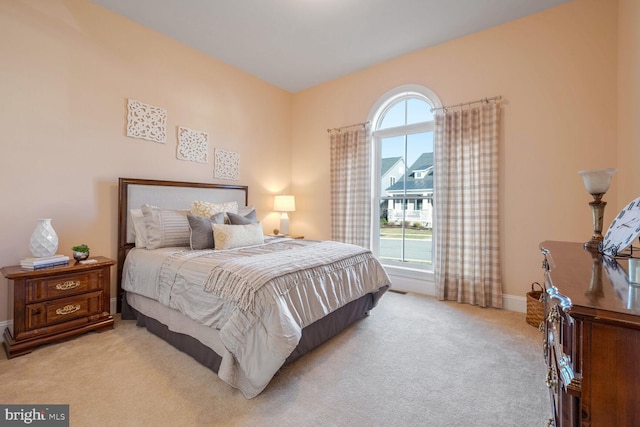
[[[504,291],[524,297],[541,280],[540,241],[591,237],[591,196],[577,171],[617,166],[616,5],[575,0],[295,94],[292,228],[330,236],[327,128],[366,120],[404,84],[428,87],[445,105],[502,95]],[[605,196],[605,227],[618,182]],[[637,180],[630,192],[640,193]]]

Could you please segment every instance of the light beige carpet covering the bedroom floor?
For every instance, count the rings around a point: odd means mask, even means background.
[[[71,426],[542,426],[541,333],[524,314],[387,293],[247,400],[132,321],[7,360],[0,403]]]

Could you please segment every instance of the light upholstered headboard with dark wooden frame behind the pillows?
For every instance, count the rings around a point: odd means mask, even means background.
[[[220,185],[181,181],[120,178],[118,180],[118,312],[122,304],[122,267],[129,249],[134,247],[131,209],[143,204],[163,209],[188,209],[195,200],[208,202],[236,201],[246,206],[249,188],[244,185]]]

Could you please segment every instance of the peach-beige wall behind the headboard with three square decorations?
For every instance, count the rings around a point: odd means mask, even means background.
[[[41,217],[59,252],[85,242],[115,258],[118,177],[249,185],[265,229],[277,225],[288,92],[83,0],[0,0],[0,63],[0,265],[30,256]],[[125,136],[127,98],[167,109],[166,144]],[[177,160],[178,125],[209,133],[210,158],[238,152],[240,181]],[[0,278],[0,322],[8,305]]]

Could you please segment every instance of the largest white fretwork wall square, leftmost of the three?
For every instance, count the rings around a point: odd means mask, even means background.
[[[127,136],[164,144],[167,140],[167,110],[127,99]]]

